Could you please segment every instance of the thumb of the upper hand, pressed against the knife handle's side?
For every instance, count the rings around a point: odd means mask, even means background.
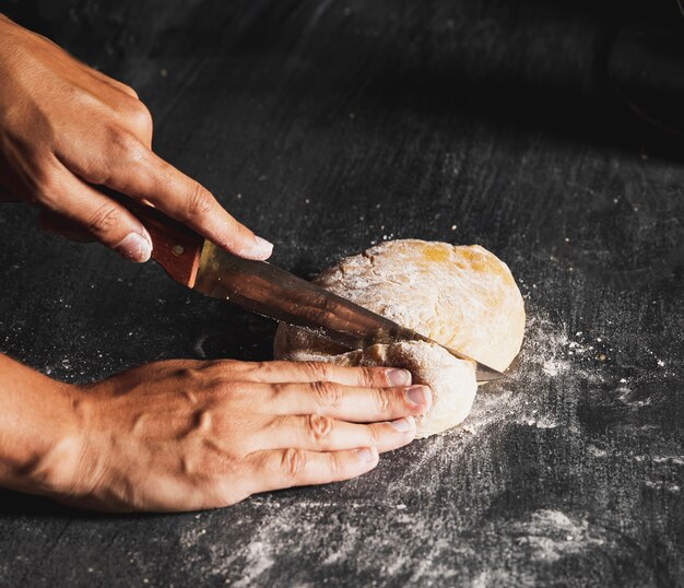
[[[130,261],[150,258],[152,239],[140,221],[66,169],[44,189],[37,203]]]

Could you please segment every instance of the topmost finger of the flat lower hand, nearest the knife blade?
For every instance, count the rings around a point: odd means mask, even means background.
[[[347,367],[326,362],[214,362],[211,369],[235,381],[263,384],[334,381],[345,386],[409,386],[411,372],[393,367]]]

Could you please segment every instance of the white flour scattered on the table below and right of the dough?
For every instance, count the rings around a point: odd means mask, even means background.
[[[615,513],[590,517],[581,504],[586,491],[566,490],[571,479],[556,480],[556,472],[568,475],[557,468],[567,456],[540,448],[546,437],[559,439],[555,446],[591,463],[591,483],[604,486],[616,460],[626,462],[635,487],[617,494],[624,501],[618,511],[635,508],[642,493],[677,499],[683,484],[668,472],[681,468],[684,456],[668,446],[623,456],[610,437],[587,434],[580,411],[587,398],[598,403],[590,419],[609,400],[611,410],[622,411],[620,419],[633,415],[633,423],[616,425],[630,436],[657,425],[636,420],[651,404],[630,373],[605,368],[622,353],[609,337],[570,330],[532,304],[528,310],[509,377],[479,387],[462,425],[381,456],[376,470],[359,479],[258,495],[233,507],[229,520],[249,529],[248,543],[232,543],[221,514],[202,515],[225,533],[225,541],[210,544],[202,543],[203,534],[187,538],[203,545],[208,584],[311,586],[315,565],[317,584],[329,585],[354,577],[364,586],[384,586],[385,578],[406,586],[564,586],[567,574],[557,584],[549,578],[577,558],[595,561],[601,571],[611,568],[615,554],[623,562],[642,558],[641,545],[615,528]],[[520,451],[535,458],[518,460]],[[538,469],[520,473],[521,462]],[[545,478],[546,493],[518,495],[516,484],[528,475]],[[579,502],[566,504],[566,496]]]

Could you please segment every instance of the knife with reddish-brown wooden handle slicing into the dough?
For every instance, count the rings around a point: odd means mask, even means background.
[[[475,364],[479,383],[506,377],[468,355],[372,313],[267,261],[234,256],[158,210],[125,204],[152,237],[152,258],[176,282],[269,318],[322,336],[344,350],[375,343],[425,341]]]

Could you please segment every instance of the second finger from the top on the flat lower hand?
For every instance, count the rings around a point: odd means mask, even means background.
[[[272,414],[321,414],[352,423],[392,421],[418,416],[432,405],[427,386],[408,388],[361,388],[326,381],[283,384],[270,390],[252,385]]]

